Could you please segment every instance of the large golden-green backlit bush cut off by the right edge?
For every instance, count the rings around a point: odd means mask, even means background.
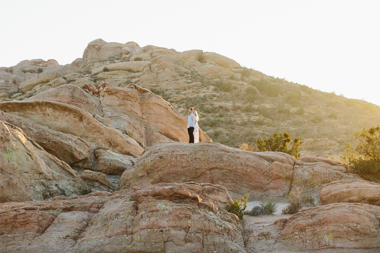
[[[363,129],[352,136],[359,141],[354,148],[348,144],[341,160],[357,174],[369,181],[380,181],[380,126]]]

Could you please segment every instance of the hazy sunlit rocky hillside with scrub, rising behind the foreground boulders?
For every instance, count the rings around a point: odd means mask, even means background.
[[[355,142],[355,131],[380,122],[377,105],[267,76],[213,52],[101,39],[65,66],[25,60],[0,68],[0,98],[24,100],[62,84],[97,87],[101,81],[119,87],[138,84],[183,115],[195,108],[207,135],[231,147],[287,131],[292,138],[302,137],[302,155],[339,157]]]

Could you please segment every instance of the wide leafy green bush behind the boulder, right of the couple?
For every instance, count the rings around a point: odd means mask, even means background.
[[[290,139],[290,135],[284,131],[284,135],[275,131],[272,138],[265,137],[264,140],[261,137],[256,141],[259,151],[274,151],[283,152],[289,155],[293,155],[298,158],[301,156],[299,153],[299,147],[302,144],[302,138],[295,138],[293,141]],[[288,148],[289,146],[289,148]]]

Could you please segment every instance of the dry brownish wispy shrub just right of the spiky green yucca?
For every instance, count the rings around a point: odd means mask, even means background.
[[[282,209],[282,214],[294,214],[298,213],[303,207],[316,206],[314,198],[310,193],[306,193],[306,190],[300,190],[298,187],[296,188],[296,191],[290,191],[287,202],[289,204]]]

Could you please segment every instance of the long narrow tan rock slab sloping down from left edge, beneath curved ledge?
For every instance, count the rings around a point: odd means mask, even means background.
[[[0,111],[0,120],[22,129],[26,136],[46,152],[71,166],[95,169],[95,146],[72,134],[54,131],[24,117]]]

